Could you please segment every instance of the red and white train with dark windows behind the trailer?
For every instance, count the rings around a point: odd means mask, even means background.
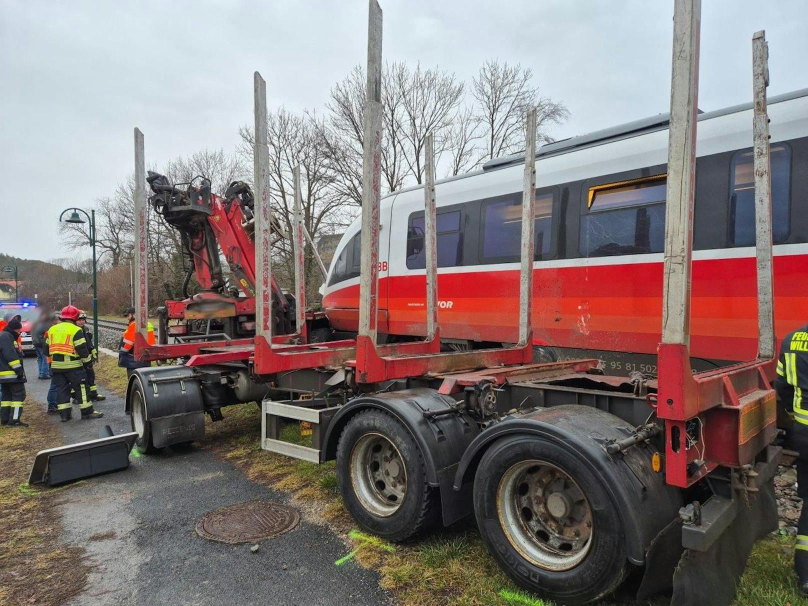
[[[776,335],[808,321],[808,89],[768,100]],[[544,145],[537,154],[536,345],[594,356],[609,372],[656,373],[663,294],[667,115]],[[695,368],[757,347],[751,103],[702,113],[692,270]],[[522,157],[439,181],[441,337],[516,341]],[[423,190],[381,205],[379,332],[426,332]],[[335,330],[356,332],[360,221],[324,285]]]

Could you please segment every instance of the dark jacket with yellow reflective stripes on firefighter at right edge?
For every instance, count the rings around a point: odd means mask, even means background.
[[[808,425],[808,402],[803,397],[808,389],[808,324],[785,335],[774,386],[789,416],[797,423]]]

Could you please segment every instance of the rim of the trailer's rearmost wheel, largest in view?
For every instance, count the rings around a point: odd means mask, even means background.
[[[497,511],[503,531],[522,557],[545,570],[570,570],[589,552],[592,512],[586,496],[562,469],[520,461],[499,481]]]

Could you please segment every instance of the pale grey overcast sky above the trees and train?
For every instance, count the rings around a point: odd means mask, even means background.
[[[498,57],[566,103],[569,137],[667,112],[672,0],[381,0],[385,61],[470,81]],[[320,109],[364,64],[367,2],[0,0],[0,252],[71,253],[57,218],[90,208],[133,168],[234,149],[251,124],[252,73],[271,107]],[[805,0],[704,0],[699,106],[751,99],[751,35],[766,30],[769,95],[808,86]],[[9,221],[10,217],[14,217]]]

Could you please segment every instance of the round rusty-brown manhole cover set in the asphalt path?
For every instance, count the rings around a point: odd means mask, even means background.
[[[211,511],[196,523],[196,534],[221,543],[251,543],[292,530],[301,520],[292,507],[277,503],[239,503]]]

